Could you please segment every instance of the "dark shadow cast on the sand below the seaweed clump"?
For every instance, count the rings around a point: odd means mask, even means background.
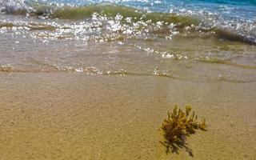
[[[170,151],[171,153],[175,153],[178,154],[178,150],[180,149],[185,149],[186,152],[190,155],[190,157],[194,157],[194,154],[192,152],[192,149],[190,149],[190,147],[187,146],[186,143],[186,137],[183,136],[180,139],[177,139],[173,142],[169,142],[169,141],[159,141],[163,146],[166,147],[166,154],[169,154]]]

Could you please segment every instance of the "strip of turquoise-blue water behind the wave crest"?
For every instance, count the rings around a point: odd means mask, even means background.
[[[175,12],[198,13],[209,12],[209,14],[225,14],[230,18],[244,18],[255,21],[256,1],[255,0],[50,0],[37,1],[42,3],[70,4],[75,6],[85,6],[98,3],[112,3],[123,6],[132,6],[141,10],[153,12]]]

